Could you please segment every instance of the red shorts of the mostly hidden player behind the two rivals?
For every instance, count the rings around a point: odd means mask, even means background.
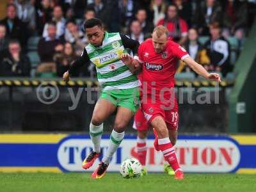
[[[134,122],[132,127],[138,131],[147,131],[148,126],[148,120],[145,118],[142,109],[138,109],[134,115]]]

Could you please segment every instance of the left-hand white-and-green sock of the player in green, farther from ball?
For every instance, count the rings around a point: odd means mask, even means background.
[[[92,122],[90,124],[90,137],[93,144],[93,151],[100,153],[100,141],[103,132],[103,124],[96,126]]]

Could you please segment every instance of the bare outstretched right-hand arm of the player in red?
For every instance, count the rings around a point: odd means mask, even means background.
[[[187,58],[184,59],[184,62],[185,62],[190,68],[192,68],[192,70],[195,71],[196,74],[205,77],[205,79],[209,79],[209,80],[212,80],[212,81],[221,82],[220,74],[207,72],[207,70],[205,70],[205,68],[202,67],[202,65],[196,63],[196,61],[193,60],[193,58],[187,57]]]

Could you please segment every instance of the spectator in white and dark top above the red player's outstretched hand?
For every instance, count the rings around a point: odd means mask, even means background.
[[[207,50],[207,56],[209,56],[211,65],[217,72],[221,72],[223,76],[226,76],[230,71],[230,45],[221,36],[221,27],[218,22],[212,22],[209,25],[211,39],[204,45]]]

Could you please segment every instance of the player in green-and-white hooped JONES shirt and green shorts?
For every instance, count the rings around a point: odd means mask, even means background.
[[[68,81],[79,67],[86,63],[94,63],[97,78],[102,86],[102,95],[93,110],[90,124],[90,136],[93,151],[83,161],[83,168],[90,168],[100,156],[100,140],[103,132],[103,122],[116,111],[113,131],[109,139],[108,150],[102,162],[92,174],[93,179],[104,176],[113,154],[124,138],[125,127],[139,107],[140,81],[125,65],[121,58],[127,49],[134,55],[133,63],[138,65],[137,51],[139,42],[120,33],[108,33],[102,29],[99,19],[89,19],[84,23],[84,29],[90,44],[81,56],[72,63],[70,69],[63,74]]]

